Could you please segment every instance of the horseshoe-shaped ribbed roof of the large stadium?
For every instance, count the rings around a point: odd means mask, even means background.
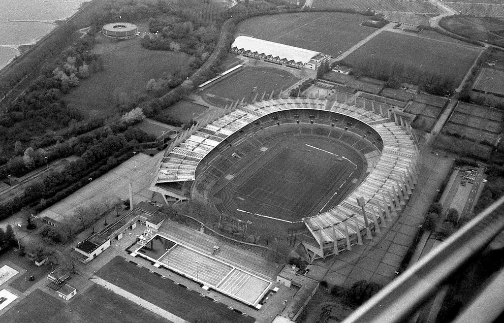
[[[242,127],[267,114],[289,109],[328,110],[326,103],[326,100],[287,98],[238,106],[188,134],[185,140],[168,151],[161,161],[156,182],[195,180],[196,168],[207,154]],[[415,141],[405,126],[381,114],[345,103],[335,102],[330,110],[356,118],[372,127],[382,138],[383,149],[364,155],[368,175],[345,200],[327,212],[303,219],[321,245],[345,239],[346,232],[353,235],[364,228],[362,209],[357,205],[358,198],[364,198],[369,221],[373,216],[382,217],[383,211],[388,210],[389,206],[393,208],[406,182],[410,186],[414,185],[411,173],[418,167],[416,163],[419,156]]]

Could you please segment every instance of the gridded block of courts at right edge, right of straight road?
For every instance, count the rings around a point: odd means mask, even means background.
[[[444,132],[492,146],[502,132],[503,120],[500,110],[459,102]]]

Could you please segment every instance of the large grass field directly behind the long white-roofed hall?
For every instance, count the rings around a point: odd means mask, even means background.
[[[376,31],[360,25],[368,19],[337,12],[267,15],[240,23],[238,34],[338,56]]]

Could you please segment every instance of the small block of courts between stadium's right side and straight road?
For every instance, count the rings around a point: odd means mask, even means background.
[[[447,101],[448,99],[443,97],[418,95],[406,110],[406,112],[416,114],[412,126],[423,131],[430,131]]]

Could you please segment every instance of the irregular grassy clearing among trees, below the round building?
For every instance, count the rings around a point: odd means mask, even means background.
[[[188,56],[183,52],[149,50],[140,44],[140,39],[115,41],[98,36],[101,43],[93,52],[100,54],[104,70],[81,80],[64,99],[74,104],[82,113],[110,115],[116,113],[118,93],[127,99],[146,93],[150,79],[166,77],[184,69]],[[90,95],[90,93],[92,95]]]

